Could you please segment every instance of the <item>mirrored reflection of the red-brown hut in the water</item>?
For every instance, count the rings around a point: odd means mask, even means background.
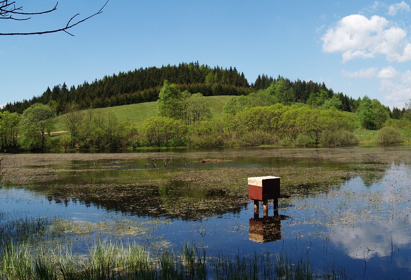
[[[265,243],[281,239],[281,220],[287,219],[286,215],[274,215],[258,217],[258,213],[254,214],[254,218],[250,219],[250,235],[251,241]]]

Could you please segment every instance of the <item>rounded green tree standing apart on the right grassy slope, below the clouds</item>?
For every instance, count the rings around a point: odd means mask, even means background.
[[[380,129],[389,118],[387,109],[377,99],[365,95],[357,109],[361,126],[365,129]]]

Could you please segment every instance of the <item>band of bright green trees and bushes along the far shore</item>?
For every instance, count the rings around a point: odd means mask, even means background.
[[[181,91],[177,84],[167,80],[160,88],[157,105],[158,116],[137,127],[128,120],[119,122],[114,113],[82,110],[77,103],[70,102],[66,105],[67,113],[61,116],[68,133],[59,136],[52,134],[57,114],[50,105],[35,103],[22,114],[4,111],[0,113],[0,146],[11,150],[47,150],[358,143],[352,133],[353,116],[343,111],[338,95],[329,97],[327,91],[320,89],[309,96],[306,104],[295,103],[283,78],[272,81],[266,89],[230,97],[218,119],[212,118],[200,92]],[[364,96],[357,116],[365,129],[393,127],[409,134],[411,100],[405,107],[402,118],[393,119],[377,99]],[[390,135],[393,130],[382,136]],[[401,141],[400,137],[395,141]]]

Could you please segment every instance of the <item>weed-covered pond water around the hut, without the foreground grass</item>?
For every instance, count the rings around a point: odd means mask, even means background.
[[[96,239],[207,254],[284,255],[347,278],[411,273],[411,147],[4,154],[0,222],[59,217],[79,254]],[[247,178],[281,177],[254,213]]]

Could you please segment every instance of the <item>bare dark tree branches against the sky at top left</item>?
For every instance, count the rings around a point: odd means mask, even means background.
[[[67,34],[69,34],[69,35],[71,35],[71,36],[74,36],[73,34],[69,33],[67,30],[70,29],[70,28],[72,28],[72,27],[74,27],[74,26],[76,26],[76,25],[78,25],[78,24],[80,24],[80,23],[83,23],[83,22],[87,21],[87,19],[90,19],[90,18],[93,17],[93,16],[96,16],[96,15],[98,15],[98,14],[101,14],[101,13],[103,12],[104,7],[107,5],[108,1],[109,1],[109,0],[107,0],[107,2],[104,4],[103,7],[101,7],[101,9],[100,9],[98,12],[96,12],[96,13],[94,13],[94,14],[92,14],[92,15],[84,18],[84,19],[81,19],[81,21],[77,21],[77,22],[72,23],[72,20],[73,20],[76,16],[78,16],[78,15],[80,15],[80,14],[78,13],[78,14],[76,14],[76,15],[73,15],[73,16],[69,19],[69,21],[67,22],[66,26],[63,27],[63,28],[54,29],[54,30],[48,30],[48,31],[27,32],[27,33],[25,33],[25,32],[23,32],[23,33],[22,33],[22,32],[17,32],[17,33],[0,33],[0,35],[40,35],[40,34],[47,34],[47,33],[55,33],[55,32],[64,31],[64,32],[66,32]],[[0,1],[0,18],[3,18],[3,19],[14,19],[14,20],[16,20],[16,21],[26,21],[27,19],[30,19],[31,17],[15,18],[15,17],[13,17],[13,15],[38,15],[38,14],[50,13],[50,12],[55,11],[55,10],[57,9],[57,5],[58,5],[59,3],[57,2],[57,4],[55,4],[54,8],[51,9],[51,10],[43,11],[43,12],[36,12],[36,13],[24,13],[24,12],[20,12],[23,7],[18,7],[18,8],[16,8],[14,4],[15,4],[15,2],[10,2],[10,3],[9,3],[8,0]]]

